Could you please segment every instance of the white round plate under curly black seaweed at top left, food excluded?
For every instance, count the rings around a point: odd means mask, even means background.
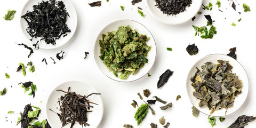
[[[44,1],[46,1],[46,0],[44,0]],[[60,1],[60,0],[56,0],[56,2],[58,2],[58,1]],[[38,3],[41,3],[41,2],[42,2],[42,0],[29,0],[23,7],[23,9],[21,11],[21,16],[26,14],[27,11],[33,11],[33,5],[38,5]],[[74,6],[71,4],[71,2],[69,0],[62,0],[62,2],[65,4],[67,12],[70,16],[70,17],[67,17],[67,22],[66,22],[66,24],[68,25],[68,27],[70,29],[70,33],[67,33],[67,36],[65,36],[65,37],[63,37],[63,35],[62,35],[59,39],[56,39],[55,45],[46,44],[44,42],[44,40],[40,41],[40,39],[42,37],[33,38],[33,41],[30,41],[29,39],[31,39],[31,36],[26,31],[26,29],[28,27],[28,23],[26,22],[25,19],[20,18],[21,30],[29,42],[35,44],[37,41],[39,41],[38,46],[41,49],[55,49],[57,47],[60,47],[64,44],[66,44],[71,39],[71,37],[74,35],[74,33],[76,31],[77,14],[76,14],[76,10],[75,10]]]

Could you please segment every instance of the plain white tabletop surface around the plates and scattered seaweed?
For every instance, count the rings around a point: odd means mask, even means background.
[[[195,21],[189,20],[182,25],[175,26],[166,25],[154,19],[147,9],[146,0],[135,5],[131,4],[131,0],[102,1],[100,7],[90,7],[87,3],[94,2],[92,0],[70,1],[75,6],[78,17],[77,29],[71,41],[58,49],[34,50],[30,58],[27,57],[29,50],[15,44],[25,43],[32,47],[20,29],[20,12],[27,0],[1,2],[0,15],[2,17],[9,9],[16,10],[17,13],[12,21],[0,18],[0,90],[4,87],[7,89],[6,95],[0,96],[0,127],[20,127],[20,125],[16,126],[17,118],[28,103],[42,109],[39,116],[39,120],[42,121],[46,118],[45,105],[50,92],[55,86],[74,79],[92,85],[102,94],[104,115],[99,127],[123,127],[123,124],[131,124],[134,127],[150,127],[151,122],[162,127],[158,121],[162,116],[166,122],[170,122],[170,127],[211,127],[207,115],[201,113],[198,117],[194,117],[191,114],[193,105],[186,93],[187,74],[194,63],[205,55],[227,54],[231,47],[237,47],[237,61],[241,63],[249,77],[249,94],[243,106],[235,113],[225,116],[225,121],[221,123],[217,117],[217,125],[214,127],[228,127],[241,115],[256,116],[255,1],[237,0],[235,1],[237,11],[235,11],[231,8],[230,1],[220,0],[221,7],[219,9],[223,11],[220,12],[217,5],[214,5],[215,0],[207,0],[203,4],[207,5],[211,2],[213,4],[212,11],[205,11],[202,6],[200,9],[202,15],[196,15]],[[243,12],[243,3],[251,7],[251,12]],[[125,6],[124,11],[121,10],[120,5]],[[140,16],[137,11],[138,6],[143,9],[146,17]],[[194,36],[195,30],[192,25],[206,25],[207,20],[204,14],[210,14],[215,20],[213,26],[216,27],[217,34],[213,39]],[[239,18],[242,18],[241,22],[237,21]],[[153,68],[149,71],[150,77],[145,75],[141,79],[129,83],[116,82],[105,76],[97,67],[93,57],[95,39],[103,27],[119,19],[138,21],[153,34],[157,45],[157,57]],[[236,26],[231,26],[232,22],[235,22]],[[197,55],[190,56],[186,52],[186,47],[194,43],[199,52]],[[166,47],[172,47],[173,50],[167,51]],[[59,61],[55,56],[61,50],[65,51],[65,54],[64,59]],[[86,60],[84,60],[85,51],[90,53]],[[55,59],[55,64],[50,57]],[[42,62],[43,58],[46,58],[48,65]],[[15,72],[19,62],[27,64],[28,61],[33,61],[35,73],[30,73],[28,68],[27,76],[23,76],[21,72]],[[158,78],[166,69],[170,69],[174,73],[161,89],[157,89]],[[4,73],[8,73],[11,78],[6,79]],[[20,82],[27,81],[32,81],[37,85],[34,99],[28,93],[24,94],[21,85],[18,85]],[[135,100],[141,105],[143,101],[139,99],[137,93],[143,94],[145,89],[149,89],[151,92],[148,99],[153,99],[152,97],[157,95],[167,102],[172,102],[173,107],[171,110],[160,110],[159,107],[162,106],[162,103],[151,105],[155,109],[156,115],[151,115],[149,111],[140,126],[137,126],[137,122],[133,118],[137,108],[134,109],[131,103],[132,100]],[[176,101],[175,98],[178,94],[181,95],[181,99]],[[148,100],[143,98],[145,101]],[[7,114],[7,111],[10,110],[14,111],[14,114]],[[255,126],[256,122],[251,122],[246,127]]]

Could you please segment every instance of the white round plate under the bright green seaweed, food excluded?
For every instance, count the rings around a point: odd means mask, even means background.
[[[150,37],[149,41],[146,43],[148,46],[152,46],[152,47],[151,47],[151,50],[148,52],[148,56],[147,56],[148,63],[145,63],[145,65],[143,67],[139,68],[138,71],[134,75],[132,75],[132,74],[129,75],[127,79],[120,79],[113,74],[113,71],[109,71],[107,66],[99,58],[101,55],[99,40],[102,39],[102,37],[101,37],[102,34],[107,35],[108,31],[117,31],[119,26],[127,26],[127,25],[129,25],[132,29],[136,29],[138,31],[138,33],[140,33],[142,35],[147,35],[147,37]],[[115,81],[119,81],[119,82],[131,82],[131,81],[135,81],[135,80],[141,78],[142,76],[146,75],[148,73],[148,71],[151,69],[151,67],[153,66],[153,64],[155,62],[155,58],[156,58],[156,43],[155,43],[153,35],[141,23],[139,23],[137,21],[133,21],[133,20],[118,20],[115,22],[111,22],[109,25],[107,25],[105,28],[103,28],[103,30],[100,31],[99,36],[97,37],[97,39],[95,41],[93,53],[94,53],[94,59],[98,65],[98,67],[106,76],[108,76],[111,79],[114,79]],[[119,76],[119,74],[118,74],[118,76]]]

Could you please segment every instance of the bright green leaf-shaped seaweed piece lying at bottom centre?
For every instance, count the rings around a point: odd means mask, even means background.
[[[135,113],[135,121],[137,121],[138,126],[140,125],[143,118],[148,114],[148,108],[149,106],[145,103],[142,103],[142,105],[138,108],[138,110]]]

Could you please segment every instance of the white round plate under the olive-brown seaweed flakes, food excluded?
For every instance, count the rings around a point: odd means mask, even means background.
[[[193,105],[200,110],[202,113],[206,114],[206,115],[210,115],[211,110],[209,110],[209,108],[207,106],[204,106],[202,108],[200,108],[198,106],[199,103],[199,99],[196,99],[193,96],[193,91],[195,91],[195,89],[193,88],[193,86],[191,85],[192,82],[190,81],[190,78],[193,77],[197,71],[196,67],[199,70],[202,70],[201,66],[204,65],[205,62],[212,62],[212,63],[218,63],[217,60],[226,60],[229,61],[230,65],[233,66],[232,69],[232,73],[235,73],[236,76],[238,76],[238,78],[240,80],[242,80],[243,83],[243,87],[242,87],[242,94],[237,95],[237,97],[235,97],[235,102],[234,102],[234,107],[233,108],[228,108],[228,111],[226,113],[226,115],[229,115],[231,113],[234,113],[237,109],[239,109],[248,94],[249,91],[249,81],[248,81],[248,77],[247,74],[243,68],[243,66],[236,61],[235,59],[229,57],[228,55],[223,55],[223,54],[211,54],[211,55],[207,55],[204,58],[198,60],[195,65],[191,68],[191,70],[189,71],[188,77],[187,77],[187,93],[188,93],[188,97],[190,99],[190,101],[193,103]],[[225,108],[219,109],[219,110],[215,110],[213,112],[213,114],[211,116],[226,116],[225,115]]]

